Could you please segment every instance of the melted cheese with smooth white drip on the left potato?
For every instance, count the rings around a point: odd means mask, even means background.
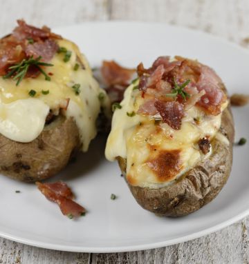
[[[12,79],[0,78],[0,133],[9,139],[19,142],[33,141],[44,128],[49,110],[58,110],[66,105],[69,99],[66,116],[73,116],[80,132],[82,150],[89,148],[89,143],[96,135],[95,121],[100,113],[100,107],[108,108],[109,99],[104,97],[100,102],[100,89],[86,58],[71,41],[58,40],[58,45],[72,52],[68,62],[64,62],[64,53],[55,54],[50,63],[53,67],[45,67],[51,80],[46,81],[42,74],[37,78],[26,78],[16,86]],[[82,62],[73,70],[75,63]],[[80,84],[80,94],[75,94],[72,86]],[[28,92],[35,90],[33,99]],[[49,90],[42,94],[42,90]],[[32,111],[30,111],[32,109]],[[11,111],[10,111],[11,110]],[[6,114],[5,114],[6,113]],[[28,128],[28,130],[27,130]]]

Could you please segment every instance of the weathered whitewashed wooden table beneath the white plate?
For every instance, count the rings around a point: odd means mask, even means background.
[[[248,14],[247,0],[0,0],[0,34],[10,32],[17,18],[52,28],[93,20],[163,21],[249,48]],[[0,238],[0,263],[249,263],[248,227],[249,217],[186,243],[116,254],[44,250]]]

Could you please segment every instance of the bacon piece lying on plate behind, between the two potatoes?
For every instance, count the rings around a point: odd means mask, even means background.
[[[103,61],[100,69],[111,103],[120,102],[136,70],[123,68],[116,61]]]

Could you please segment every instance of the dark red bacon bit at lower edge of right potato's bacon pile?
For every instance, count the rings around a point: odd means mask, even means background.
[[[163,119],[163,123],[167,123],[174,130],[180,130],[181,119],[184,116],[183,104],[178,101],[156,101],[155,107]]]

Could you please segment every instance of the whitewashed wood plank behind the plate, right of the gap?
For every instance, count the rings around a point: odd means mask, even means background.
[[[247,0],[113,0],[111,19],[187,26],[241,43],[249,36]]]

